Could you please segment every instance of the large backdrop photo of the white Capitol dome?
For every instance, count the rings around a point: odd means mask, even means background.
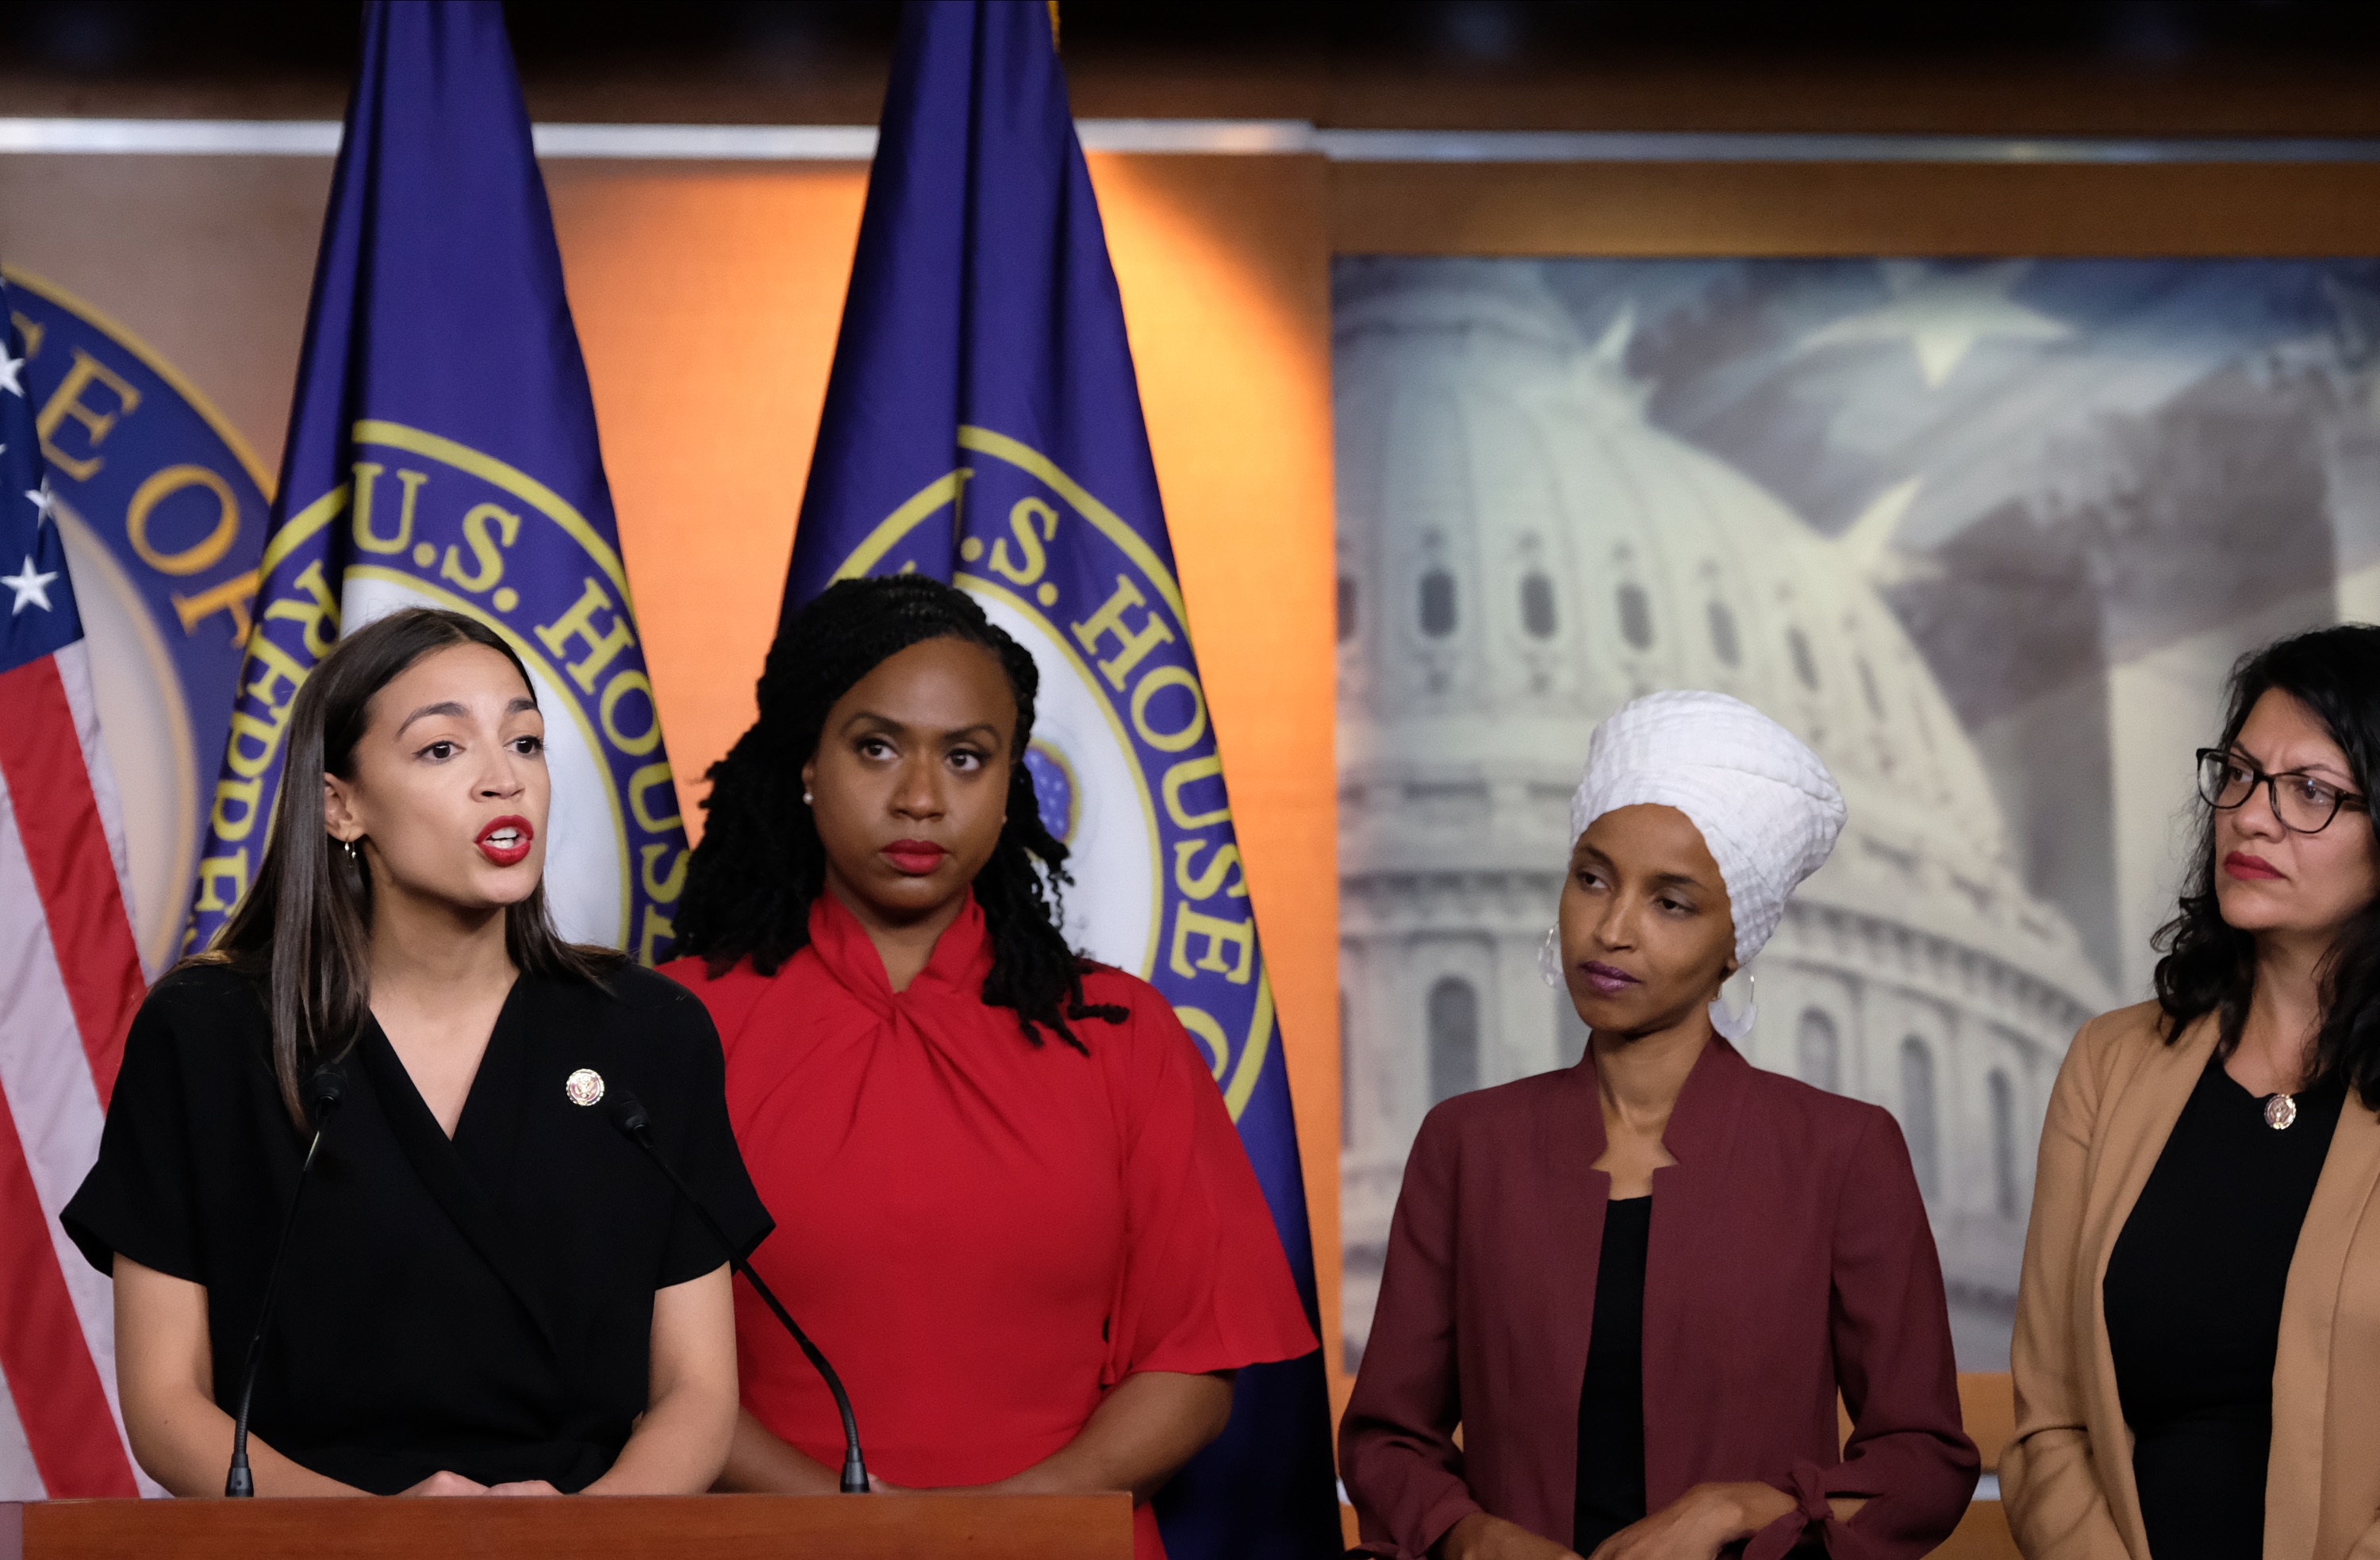
[[[1745,1048],[1899,1117],[2006,1369],[2223,674],[2380,617],[2380,264],[1347,257],[1335,336],[1349,1365],[1421,1117],[1585,1046],[1537,943],[1587,734],[1721,688],[1852,807]]]

